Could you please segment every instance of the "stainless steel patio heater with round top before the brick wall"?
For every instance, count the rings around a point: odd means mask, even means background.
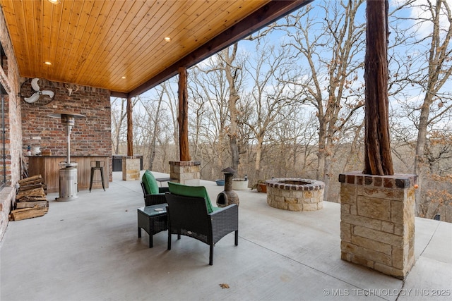
[[[60,162],[59,164],[61,167],[59,170],[59,197],[55,200],[70,201],[78,197],[77,163],[71,162],[71,131],[76,124],[76,118],[84,118],[86,116],[78,113],[52,113],[48,116],[61,118],[61,124],[66,127],[66,135],[68,135],[66,162]]]

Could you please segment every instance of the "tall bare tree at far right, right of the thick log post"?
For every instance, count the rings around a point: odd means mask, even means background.
[[[429,202],[424,194],[424,183],[432,174],[430,164],[434,154],[429,148],[429,133],[444,128],[451,114],[452,93],[452,13],[446,0],[407,1],[403,6],[411,11],[409,17],[397,17],[405,25],[405,56],[403,70],[397,70],[394,77],[399,85],[406,87],[398,95],[401,110],[417,129],[416,137],[410,140],[415,147],[413,172],[417,174],[419,188],[416,190],[417,214],[425,216],[422,208]],[[401,8],[400,8],[401,9]],[[401,22],[400,22],[401,21]],[[399,30],[400,31],[400,30]],[[408,130],[412,133],[412,130]]]

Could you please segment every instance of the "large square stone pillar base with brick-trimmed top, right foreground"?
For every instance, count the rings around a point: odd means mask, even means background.
[[[339,175],[341,259],[405,279],[415,264],[416,178]]]

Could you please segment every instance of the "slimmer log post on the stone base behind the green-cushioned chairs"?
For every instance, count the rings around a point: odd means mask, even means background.
[[[189,92],[187,90],[186,68],[179,68],[179,158],[190,161],[189,149]]]

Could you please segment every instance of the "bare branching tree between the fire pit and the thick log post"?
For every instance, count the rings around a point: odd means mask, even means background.
[[[328,197],[331,178],[331,156],[337,144],[335,135],[350,121],[352,114],[364,105],[359,73],[364,66],[363,23],[356,20],[364,1],[323,1],[305,6],[286,18],[287,35],[292,41],[287,47],[298,51],[305,75],[297,84],[304,92],[304,102],[316,109],[319,122],[318,166],[316,178],[325,182]],[[321,13],[319,18],[316,13]],[[341,116],[343,107],[351,108]]]

